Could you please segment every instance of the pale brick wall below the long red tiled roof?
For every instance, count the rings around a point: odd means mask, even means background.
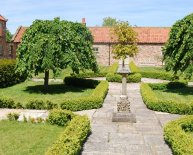
[[[162,65],[162,51],[163,44],[140,44],[138,45],[139,52],[134,57],[134,61],[140,66],[161,66]],[[108,66],[114,63],[113,55],[111,53],[112,46],[109,44],[94,44],[93,47],[98,48],[95,51],[97,62],[99,65]],[[109,53],[110,47],[110,53]]]

